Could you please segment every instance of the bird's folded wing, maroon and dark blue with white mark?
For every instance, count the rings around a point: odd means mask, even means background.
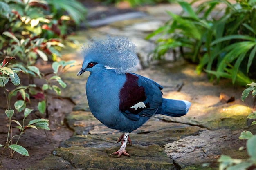
[[[119,95],[121,113],[132,120],[154,115],[162,103],[162,88],[151,79],[127,73]]]

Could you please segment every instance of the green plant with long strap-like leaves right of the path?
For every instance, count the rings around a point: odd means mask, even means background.
[[[177,48],[186,59],[197,62],[196,71],[209,73],[217,81],[228,78],[245,85],[255,77],[255,1],[208,0],[192,8],[191,4],[178,0],[182,15],[168,12],[171,19],[146,38],[161,35],[156,41],[154,58],[160,59],[169,50]],[[216,6],[225,4],[225,12],[216,19]],[[219,10],[221,11],[221,9]],[[239,46],[239,48],[237,48]]]

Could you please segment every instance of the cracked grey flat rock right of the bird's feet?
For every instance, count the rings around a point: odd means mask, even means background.
[[[164,146],[167,155],[181,168],[191,165],[216,162],[220,155],[232,155],[232,158],[245,159],[246,140],[238,139],[242,131],[204,130],[196,136],[188,136]]]

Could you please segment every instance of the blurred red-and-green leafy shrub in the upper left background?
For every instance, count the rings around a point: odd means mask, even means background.
[[[64,3],[65,2],[65,3]],[[44,113],[47,111],[47,93],[48,89],[54,90],[60,94],[61,90],[58,86],[50,83],[57,81],[62,87],[65,83],[58,77],[58,71],[55,76],[48,78],[43,75],[40,70],[34,66],[38,56],[43,61],[48,61],[49,58],[56,60],[61,57],[59,50],[65,46],[61,43],[61,39],[65,39],[67,35],[67,27],[73,18],[75,24],[85,18],[85,8],[75,1],[43,1],[43,0],[29,0],[29,1],[8,1],[0,3],[0,18],[6,26],[0,26],[0,55],[2,57],[12,56],[16,57],[16,61],[9,64],[10,68],[19,68],[23,73],[29,75],[29,82],[34,84],[34,78],[45,79],[48,86],[41,87],[41,91],[35,90],[36,87],[20,86],[12,95],[26,96],[24,99],[20,98],[17,102],[23,104],[20,109],[26,107],[26,102],[29,102],[29,96],[36,96],[41,101],[38,103],[38,110]],[[64,15],[67,11],[70,17]],[[2,15],[1,15],[2,14]],[[61,38],[58,38],[61,37]],[[52,57],[51,57],[52,56]],[[62,65],[66,62],[59,62]],[[70,62],[68,62],[70,63]],[[63,67],[65,67],[63,65]],[[57,80],[58,79],[58,80]],[[29,87],[29,88],[28,88]],[[27,90],[24,90],[27,89]],[[22,110],[20,110],[22,111]]]

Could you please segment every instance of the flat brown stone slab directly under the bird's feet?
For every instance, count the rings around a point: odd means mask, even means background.
[[[118,150],[112,148],[91,148],[74,146],[57,148],[54,155],[70,162],[75,168],[97,168],[100,170],[176,170],[172,159],[166,156],[157,145],[148,147],[127,146],[130,157],[117,158],[110,153]]]

